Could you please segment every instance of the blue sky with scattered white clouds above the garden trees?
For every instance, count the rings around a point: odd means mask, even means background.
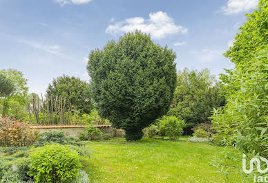
[[[90,50],[140,29],[168,45],[177,69],[233,67],[222,56],[245,13],[257,0],[1,0],[0,69],[18,69],[30,92],[44,93],[52,78],[67,74],[89,80]]]

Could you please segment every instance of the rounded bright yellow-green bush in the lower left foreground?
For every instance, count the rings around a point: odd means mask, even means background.
[[[67,182],[79,175],[81,163],[77,151],[61,144],[49,144],[30,155],[29,175],[36,182]]]

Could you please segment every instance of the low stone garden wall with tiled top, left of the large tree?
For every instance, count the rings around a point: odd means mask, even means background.
[[[85,132],[87,125],[30,125],[33,129],[39,129],[40,133],[45,131],[64,131],[67,136],[78,137],[79,133]],[[113,129],[111,125],[93,125],[104,133],[112,137],[124,137],[124,130]]]

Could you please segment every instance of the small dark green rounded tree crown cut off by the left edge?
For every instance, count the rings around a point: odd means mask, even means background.
[[[15,85],[12,80],[6,78],[3,74],[0,74],[0,97],[9,96],[15,91]]]

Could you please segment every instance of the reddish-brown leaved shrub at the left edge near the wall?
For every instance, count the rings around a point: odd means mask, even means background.
[[[0,146],[29,147],[37,138],[38,131],[25,122],[18,122],[8,116],[0,116]]]

